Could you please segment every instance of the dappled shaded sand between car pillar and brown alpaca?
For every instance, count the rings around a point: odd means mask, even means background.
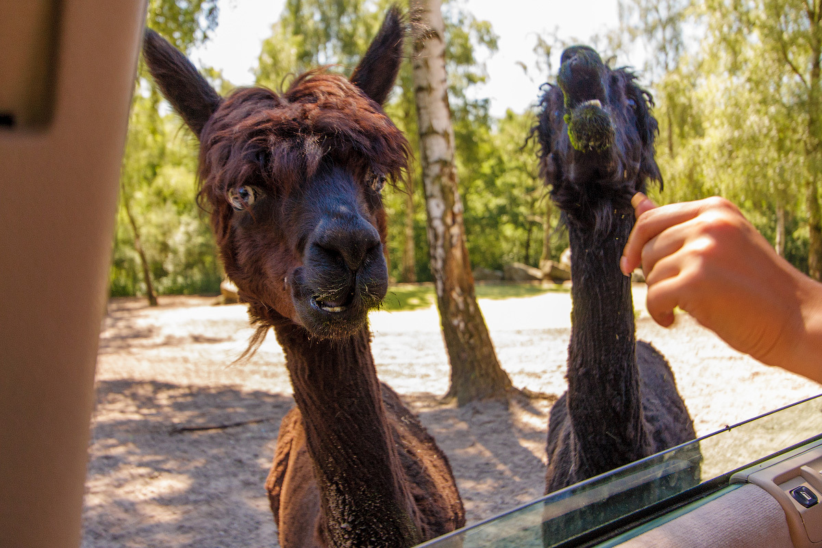
[[[232,387],[99,382],[82,546],[276,546],[263,484],[292,405]],[[192,426],[217,427],[180,431]]]

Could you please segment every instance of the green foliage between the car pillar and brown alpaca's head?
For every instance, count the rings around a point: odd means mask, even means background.
[[[159,117],[152,96],[136,97],[121,171],[111,293],[145,294],[141,260],[125,202],[135,218],[155,291],[219,292],[217,251],[195,203],[196,142],[177,117]]]

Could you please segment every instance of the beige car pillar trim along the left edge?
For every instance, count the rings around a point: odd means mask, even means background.
[[[3,2],[3,20],[17,21],[29,1]],[[53,113],[36,130],[0,127],[3,548],[80,544],[97,340],[145,19],[145,0],[57,5]],[[13,85],[0,76],[0,87]]]

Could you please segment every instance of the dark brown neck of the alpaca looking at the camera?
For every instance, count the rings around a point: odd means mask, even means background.
[[[423,541],[382,403],[367,329],[341,340],[277,329],[330,546]]]

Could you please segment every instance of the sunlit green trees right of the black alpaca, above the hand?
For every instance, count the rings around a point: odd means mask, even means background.
[[[820,8],[800,0],[620,3],[624,35],[647,47],[657,100],[665,191],[652,197],[725,196],[771,242],[783,217],[784,256],[807,271],[822,154],[813,71]],[[686,27],[699,37],[690,45]]]

